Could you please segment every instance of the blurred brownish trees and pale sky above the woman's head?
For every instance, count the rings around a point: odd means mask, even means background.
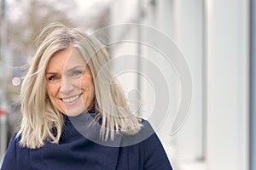
[[[9,49],[15,58],[14,65],[24,64],[26,58],[32,54],[35,37],[50,22],[61,22],[67,26],[85,26],[90,29],[108,25],[106,4],[96,4],[93,7],[94,14],[88,14],[90,11],[78,8],[79,4],[74,0],[14,0],[9,3],[8,40]]]

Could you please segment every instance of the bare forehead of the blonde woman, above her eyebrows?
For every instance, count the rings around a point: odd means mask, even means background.
[[[47,71],[68,70],[77,65],[86,65],[85,60],[78,49],[70,47],[57,52],[49,59]]]

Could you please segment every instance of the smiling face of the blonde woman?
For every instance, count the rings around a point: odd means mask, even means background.
[[[45,80],[51,103],[67,116],[78,116],[94,104],[90,68],[76,48],[67,48],[49,59]]]

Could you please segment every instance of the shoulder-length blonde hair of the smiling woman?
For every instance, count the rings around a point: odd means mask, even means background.
[[[77,28],[53,23],[38,36],[36,54],[20,88],[22,119],[17,136],[21,136],[21,146],[35,149],[44,146],[45,141],[59,143],[64,120],[49,100],[45,71],[49,59],[70,46],[79,50],[90,67],[102,140],[113,140],[116,133],[133,135],[142,127],[141,118],[131,113],[122,88],[111,75],[108,52],[102,43]]]

